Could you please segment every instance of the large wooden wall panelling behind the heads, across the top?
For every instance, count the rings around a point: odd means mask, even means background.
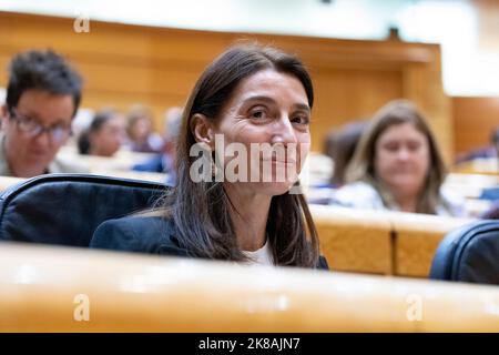
[[[428,113],[446,158],[452,155],[438,45],[99,21],[91,21],[90,33],[75,33],[72,26],[72,19],[0,12],[0,67],[21,50],[51,47],[69,57],[85,77],[83,105],[126,110],[142,102],[153,108],[159,130],[164,110],[184,104],[196,78],[225,47],[242,38],[257,40],[298,54],[309,68],[316,87],[313,150],[322,150],[329,129],[371,115],[388,100],[408,98]],[[6,80],[1,71],[0,85]]]

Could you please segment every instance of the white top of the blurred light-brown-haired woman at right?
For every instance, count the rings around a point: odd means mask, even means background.
[[[450,193],[444,187],[440,189],[440,196],[446,202],[448,209],[441,204],[438,205],[436,207],[438,215],[456,217],[464,217],[467,215],[465,200],[462,197]],[[340,187],[334,192],[329,204],[364,210],[400,211],[398,206],[385,206],[383,199],[376,189],[366,182],[354,182]]]

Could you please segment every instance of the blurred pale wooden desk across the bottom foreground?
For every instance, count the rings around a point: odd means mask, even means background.
[[[498,306],[493,286],[0,245],[0,332],[499,332]]]

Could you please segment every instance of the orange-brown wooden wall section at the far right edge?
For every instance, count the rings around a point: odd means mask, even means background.
[[[456,154],[490,144],[499,128],[499,98],[452,98]]]

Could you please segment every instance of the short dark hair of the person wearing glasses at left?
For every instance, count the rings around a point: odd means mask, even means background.
[[[82,79],[52,50],[30,50],[17,54],[10,62],[6,100],[9,110],[18,104],[24,91],[31,89],[72,95],[74,116],[81,101]]]

